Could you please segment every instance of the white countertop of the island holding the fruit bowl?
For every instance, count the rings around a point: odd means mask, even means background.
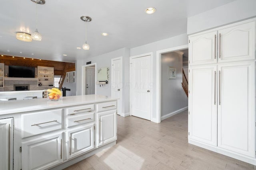
[[[63,97],[62,100],[58,101],[48,101],[47,98],[0,101],[0,115],[42,109],[52,109],[58,107],[76,106],[81,104],[91,104],[97,102],[107,102],[112,100],[117,100],[117,98],[113,98],[111,96],[91,94],[82,96],[67,96]]]

